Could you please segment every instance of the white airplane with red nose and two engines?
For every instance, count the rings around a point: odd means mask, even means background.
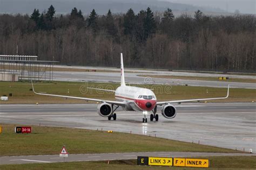
[[[35,92],[32,84],[32,90],[36,94],[41,94],[45,96],[54,96],[54,97],[64,97],[64,98],[72,98],[72,99],[82,99],[82,100],[91,100],[97,101],[100,104],[98,105],[98,114],[102,117],[107,117],[109,120],[113,118],[116,120],[117,115],[114,113],[119,106],[121,106],[126,111],[139,111],[143,113],[143,123],[147,122],[146,115],[152,111],[150,114],[150,121],[155,119],[158,121],[157,106],[161,107],[161,114],[167,118],[172,119],[176,117],[177,111],[176,107],[174,107],[173,103],[184,103],[189,101],[200,101],[200,100],[216,100],[216,99],[226,99],[228,98],[230,86],[228,85],[227,96],[219,97],[219,98],[205,98],[205,99],[188,99],[188,100],[173,100],[173,101],[157,101],[156,95],[153,91],[149,89],[144,89],[140,87],[126,86],[124,79],[124,65],[123,65],[123,54],[121,53],[121,85],[113,90],[104,90],[104,89],[96,89],[103,91],[111,91],[115,93],[115,98],[117,101],[112,100],[102,100],[102,99],[93,99],[93,98],[84,98],[84,97],[71,97],[71,96],[60,96],[55,94],[46,94],[46,93],[37,93]],[[91,88],[95,89],[95,88]]]

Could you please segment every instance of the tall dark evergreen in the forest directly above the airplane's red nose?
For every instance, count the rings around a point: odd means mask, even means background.
[[[149,37],[152,33],[156,33],[156,21],[151,9],[148,7],[146,10],[146,18],[144,20],[145,38]]]

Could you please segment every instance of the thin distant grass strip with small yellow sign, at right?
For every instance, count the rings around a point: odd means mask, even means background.
[[[229,78],[228,80],[219,80],[219,77],[197,77],[197,76],[161,76],[161,75],[138,75],[140,77],[167,78],[167,79],[185,79],[185,80],[207,80],[207,81],[231,81],[241,83],[256,83],[256,79],[250,78]],[[226,76],[228,77],[228,75]]]

